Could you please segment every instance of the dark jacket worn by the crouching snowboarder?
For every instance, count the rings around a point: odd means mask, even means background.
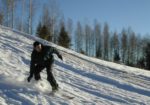
[[[56,54],[61,60],[62,56],[59,54],[59,52],[51,46],[43,46],[42,45],[42,51],[37,52],[36,50],[32,51],[31,54],[31,63],[30,63],[30,76],[33,76],[34,68],[36,65],[45,65],[47,63],[51,63],[54,60],[53,54]]]

